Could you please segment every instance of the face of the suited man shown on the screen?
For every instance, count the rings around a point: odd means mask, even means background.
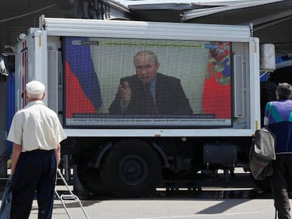
[[[150,83],[157,74],[159,63],[149,54],[139,54],[135,57],[136,74],[144,84]]]

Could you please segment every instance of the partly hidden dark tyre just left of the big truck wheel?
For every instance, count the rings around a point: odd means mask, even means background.
[[[85,163],[80,163],[77,165],[77,175],[80,183],[88,191],[97,195],[109,194],[109,190],[99,177],[97,168],[88,168]]]

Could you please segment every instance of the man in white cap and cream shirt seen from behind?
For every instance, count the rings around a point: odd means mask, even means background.
[[[66,139],[58,116],[44,106],[44,85],[38,81],[25,87],[28,105],[16,112],[8,141],[13,142],[11,163],[11,219],[29,218],[37,194],[39,219],[51,218],[60,142]]]

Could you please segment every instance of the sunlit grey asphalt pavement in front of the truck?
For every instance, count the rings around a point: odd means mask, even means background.
[[[0,180],[1,195],[6,179]],[[147,199],[116,199],[92,194],[78,194],[80,202],[66,201],[66,208],[59,199],[54,201],[53,219],[192,219],[192,218],[274,218],[272,196],[255,187],[249,173],[237,173],[226,183],[222,173],[216,179],[205,177],[202,190],[187,188],[157,189],[157,194]],[[72,189],[73,187],[70,186]],[[58,192],[66,194],[63,185]],[[83,208],[80,206],[82,204]],[[66,209],[68,213],[66,213]],[[83,211],[84,209],[84,211]],[[86,215],[85,215],[86,213]],[[33,202],[30,219],[37,219],[37,201]]]

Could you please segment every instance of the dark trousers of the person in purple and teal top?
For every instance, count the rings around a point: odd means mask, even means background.
[[[292,184],[292,154],[276,155],[273,161],[274,175],[271,177],[274,206],[279,219],[291,219],[288,189]]]

